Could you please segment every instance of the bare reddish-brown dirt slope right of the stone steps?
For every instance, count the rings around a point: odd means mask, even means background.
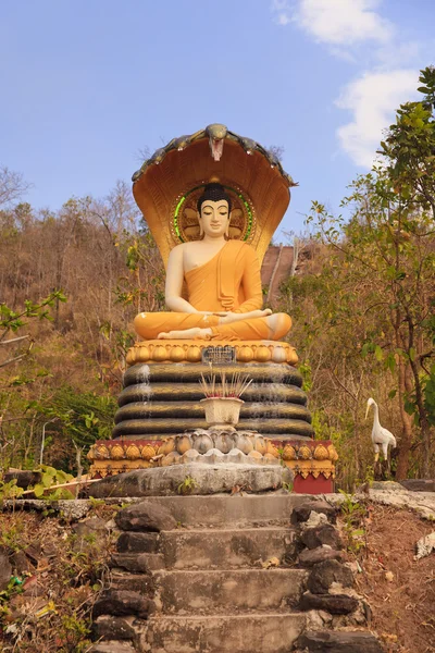
[[[414,560],[415,543],[434,530],[435,523],[411,512],[368,508],[357,591],[366,597],[371,628],[388,653],[435,653],[435,553]]]

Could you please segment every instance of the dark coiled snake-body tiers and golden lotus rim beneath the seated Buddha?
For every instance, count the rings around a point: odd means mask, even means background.
[[[206,347],[229,346],[236,361],[201,362]],[[253,383],[244,394],[239,428],[269,438],[312,438],[302,377],[287,343],[220,341],[147,341],[132,347],[124,374],[113,438],[160,438],[206,429],[201,374],[235,372]]]

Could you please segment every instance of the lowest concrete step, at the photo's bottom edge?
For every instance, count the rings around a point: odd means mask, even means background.
[[[141,650],[152,653],[288,653],[306,625],[300,613],[151,617]]]

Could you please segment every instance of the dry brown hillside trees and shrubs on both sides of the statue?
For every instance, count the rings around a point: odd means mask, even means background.
[[[370,396],[398,440],[391,473],[434,472],[433,69],[421,84],[378,165],[350,185],[346,218],[313,202],[309,260],[273,306],[294,318],[316,438],[336,444],[347,489],[373,476]],[[164,271],[126,184],[57,212],[25,190],[0,170],[0,466],[77,470],[111,434],[132,319],[163,309]]]

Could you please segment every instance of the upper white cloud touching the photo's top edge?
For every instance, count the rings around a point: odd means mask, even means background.
[[[373,11],[378,0],[273,0],[272,11],[279,25],[294,22],[319,42],[353,46],[372,40],[386,44],[393,25]]]

